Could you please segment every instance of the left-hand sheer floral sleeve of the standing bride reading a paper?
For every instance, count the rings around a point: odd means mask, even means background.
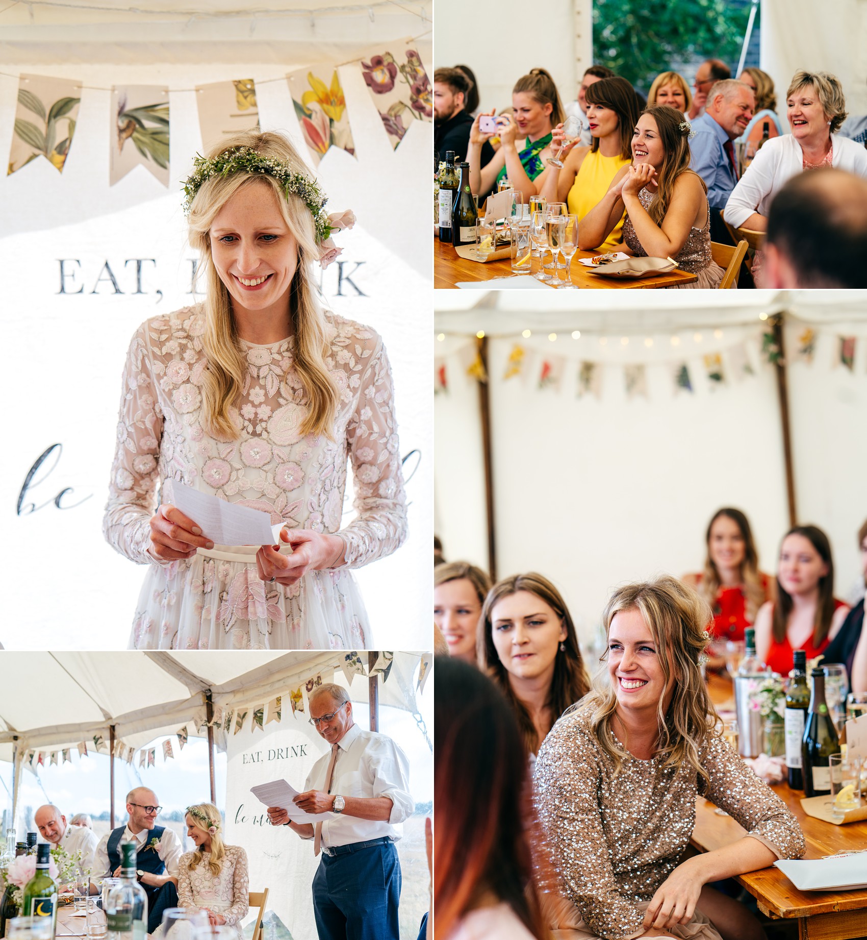
[[[123,370],[115,461],[102,520],[108,543],[140,565],[170,564],[147,551],[162,434],[163,414],[147,347],[147,323],[143,323],[132,337]]]

